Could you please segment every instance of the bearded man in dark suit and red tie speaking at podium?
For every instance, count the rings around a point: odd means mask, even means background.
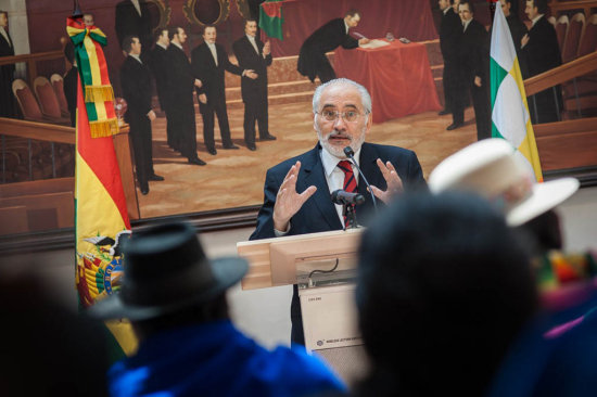
[[[427,189],[415,152],[365,142],[372,124],[371,97],[365,87],[344,78],[328,81],[315,91],[313,113],[319,142],[267,171],[264,204],[250,240],[343,229],[342,206],[330,198],[330,193],[339,189],[367,197],[355,207],[363,225],[367,225],[376,205],[367,181],[380,206],[403,189]],[[354,152],[352,158],[346,148]],[[304,344],[296,285],[291,320],[292,342]]]

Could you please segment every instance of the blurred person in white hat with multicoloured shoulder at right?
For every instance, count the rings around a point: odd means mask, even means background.
[[[593,396],[597,393],[597,257],[562,252],[557,205],[574,178],[534,183],[520,152],[501,139],[473,143],[444,159],[430,190],[481,194],[505,214],[533,256],[541,313],[518,336],[490,396]]]

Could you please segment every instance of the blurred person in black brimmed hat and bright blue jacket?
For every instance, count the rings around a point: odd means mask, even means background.
[[[344,385],[304,349],[269,351],[239,332],[226,291],[247,271],[238,257],[207,259],[188,223],[132,233],[120,293],[90,313],[128,318],[140,341],[109,372],[113,396],[303,396]]]

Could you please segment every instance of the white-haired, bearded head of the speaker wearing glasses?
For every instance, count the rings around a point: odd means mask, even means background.
[[[339,158],[346,157],[346,146],[358,152],[373,120],[369,92],[346,78],[317,87],[313,95],[313,113],[319,143]]]

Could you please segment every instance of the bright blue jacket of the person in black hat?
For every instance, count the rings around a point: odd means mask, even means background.
[[[304,396],[345,386],[304,348],[269,351],[230,321],[161,333],[109,371],[112,396]]]

